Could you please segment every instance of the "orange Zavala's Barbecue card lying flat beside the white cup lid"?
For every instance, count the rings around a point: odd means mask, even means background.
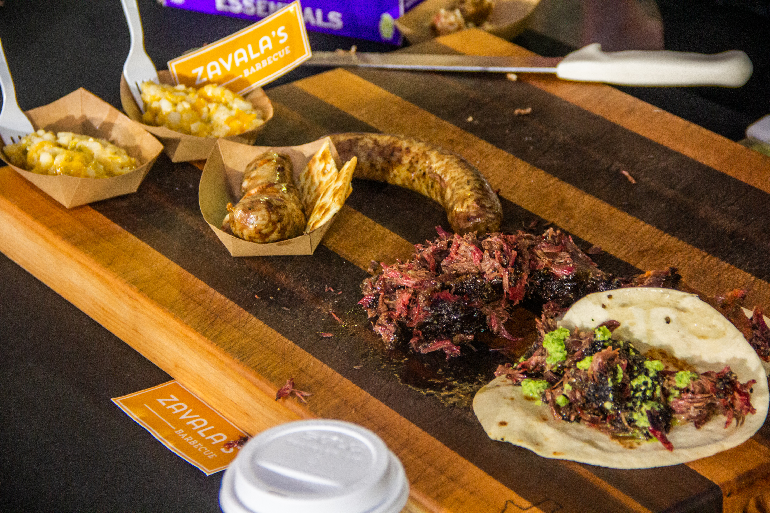
[[[236,441],[248,436],[176,381],[112,402],[206,475],[227,468],[238,454]]]

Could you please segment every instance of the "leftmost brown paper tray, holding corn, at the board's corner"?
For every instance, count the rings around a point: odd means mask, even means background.
[[[42,128],[52,132],[75,132],[106,139],[139,161],[139,168],[125,175],[112,178],[75,178],[25,171],[11,165],[5,153],[0,151],[0,157],[6,164],[67,208],[136,192],[163,149],[156,138],[142,127],[84,88],[79,88],[49,105],[33,108],[27,111],[26,115],[35,130]],[[0,148],[3,145],[0,141]]]

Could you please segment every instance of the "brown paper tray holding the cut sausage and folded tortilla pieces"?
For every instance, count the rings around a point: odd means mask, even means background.
[[[219,139],[216,141],[203,174],[200,177],[198,188],[198,202],[203,218],[209,223],[211,229],[219,237],[219,240],[233,256],[277,256],[277,255],[313,255],[316,247],[321,242],[326,230],[334,222],[336,215],[328,222],[305,235],[286,239],[285,241],[258,244],[244,241],[234,237],[222,228],[222,220],[227,214],[228,202],[235,205],[240,198],[241,179],[243,170],[249,162],[265,152],[278,152],[289,155],[294,167],[294,180],[300,176],[310,158],[318,152],[323,143],[328,141],[329,147],[337,164],[341,168],[340,157],[336,153],[330,138],[321,138],[301,146],[267,147],[249,146],[237,142]]]

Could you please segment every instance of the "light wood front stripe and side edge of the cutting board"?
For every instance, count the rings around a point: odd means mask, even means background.
[[[316,416],[373,429],[426,497],[410,511],[540,511],[99,212],[62,208],[10,168],[0,251],[250,433]],[[273,400],[290,376],[313,392],[306,408]]]

